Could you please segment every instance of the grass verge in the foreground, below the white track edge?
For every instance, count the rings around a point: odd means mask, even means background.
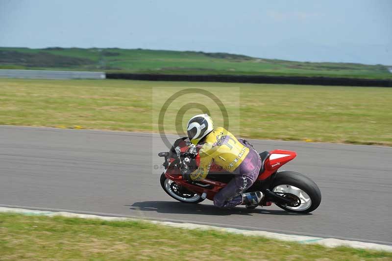
[[[6,260],[391,260],[392,253],[325,248],[138,221],[0,213]]]

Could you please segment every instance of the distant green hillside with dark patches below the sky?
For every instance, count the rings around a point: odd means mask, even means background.
[[[221,52],[177,52],[118,48],[80,49],[54,47],[29,49],[0,47],[0,69],[392,78],[388,67],[356,63],[295,62]]]

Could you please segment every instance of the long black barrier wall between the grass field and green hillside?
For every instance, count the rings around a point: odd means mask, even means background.
[[[106,73],[108,79],[163,80],[163,81],[216,81],[243,83],[305,84],[335,86],[392,87],[392,79],[359,79],[289,76],[226,76],[226,75],[158,75]]]

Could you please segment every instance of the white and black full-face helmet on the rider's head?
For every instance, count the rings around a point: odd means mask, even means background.
[[[193,116],[188,122],[188,138],[195,145],[214,130],[214,122],[208,114]]]

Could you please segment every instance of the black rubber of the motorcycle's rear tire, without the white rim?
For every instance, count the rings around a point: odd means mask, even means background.
[[[321,203],[321,191],[317,186],[317,184],[314,183],[308,177],[294,171],[278,172],[276,174],[275,180],[272,182],[270,186],[270,190],[272,191],[274,187],[283,184],[293,185],[305,191],[311,198],[312,204],[308,209],[304,209],[304,210],[289,209],[283,205],[276,204],[276,206],[278,206],[279,208],[293,213],[309,213],[319,207]]]

